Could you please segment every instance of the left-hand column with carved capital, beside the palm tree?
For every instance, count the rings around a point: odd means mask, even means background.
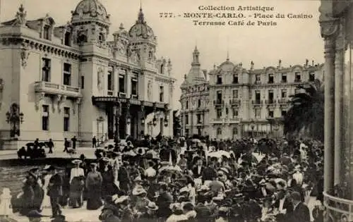
[[[335,144],[335,34],[337,20],[321,21],[321,35],[325,42],[325,159],[324,191],[333,189],[334,144]]]

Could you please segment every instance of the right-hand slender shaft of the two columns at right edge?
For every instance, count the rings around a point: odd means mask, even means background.
[[[340,29],[342,32],[342,29]],[[334,185],[342,182],[342,151],[343,151],[343,90],[344,85],[344,37],[340,33],[335,41],[335,173]],[[326,82],[326,80],[325,80]],[[325,119],[326,121],[326,119]]]

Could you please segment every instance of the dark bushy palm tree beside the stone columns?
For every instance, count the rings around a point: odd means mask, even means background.
[[[291,95],[292,105],[285,115],[285,135],[298,136],[301,131],[323,142],[324,102],[323,84],[320,80],[306,82],[297,87],[300,92]]]

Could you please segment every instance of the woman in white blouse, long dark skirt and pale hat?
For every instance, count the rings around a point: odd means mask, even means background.
[[[80,164],[82,163],[80,159],[74,159],[72,163],[75,166],[71,169],[70,175],[70,206],[78,208],[83,204],[85,171],[83,171],[83,168],[80,168]]]

